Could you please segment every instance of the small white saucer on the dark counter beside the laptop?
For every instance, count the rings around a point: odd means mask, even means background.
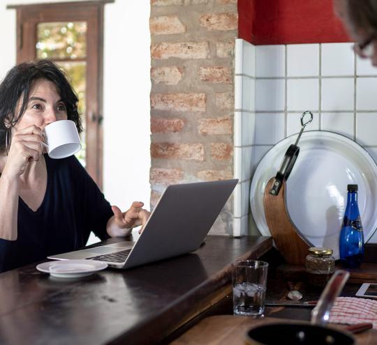
[[[78,278],[92,275],[98,270],[108,267],[107,263],[94,260],[61,260],[40,263],[36,269],[40,272],[50,273],[53,277]]]

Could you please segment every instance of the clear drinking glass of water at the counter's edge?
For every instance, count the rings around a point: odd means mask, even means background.
[[[265,311],[268,263],[240,260],[232,265],[233,312],[261,316]]]

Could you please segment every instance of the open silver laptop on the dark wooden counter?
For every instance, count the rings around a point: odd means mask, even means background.
[[[170,185],[151,213],[136,242],[123,241],[47,256],[89,259],[113,268],[131,268],[197,250],[238,180]]]

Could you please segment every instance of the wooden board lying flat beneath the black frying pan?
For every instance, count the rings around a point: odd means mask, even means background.
[[[276,318],[258,318],[254,319],[248,316],[218,315],[209,316],[193,328],[188,330],[184,335],[170,343],[171,345],[244,345],[246,332],[260,323],[297,323],[300,321],[287,321]],[[342,329],[343,325],[332,325],[335,328]],[[377,344],[377,331],[366,330],[358,335],[354,335],[357,345],[375,345]],[[281,344],[283,342],[283,335]]]

